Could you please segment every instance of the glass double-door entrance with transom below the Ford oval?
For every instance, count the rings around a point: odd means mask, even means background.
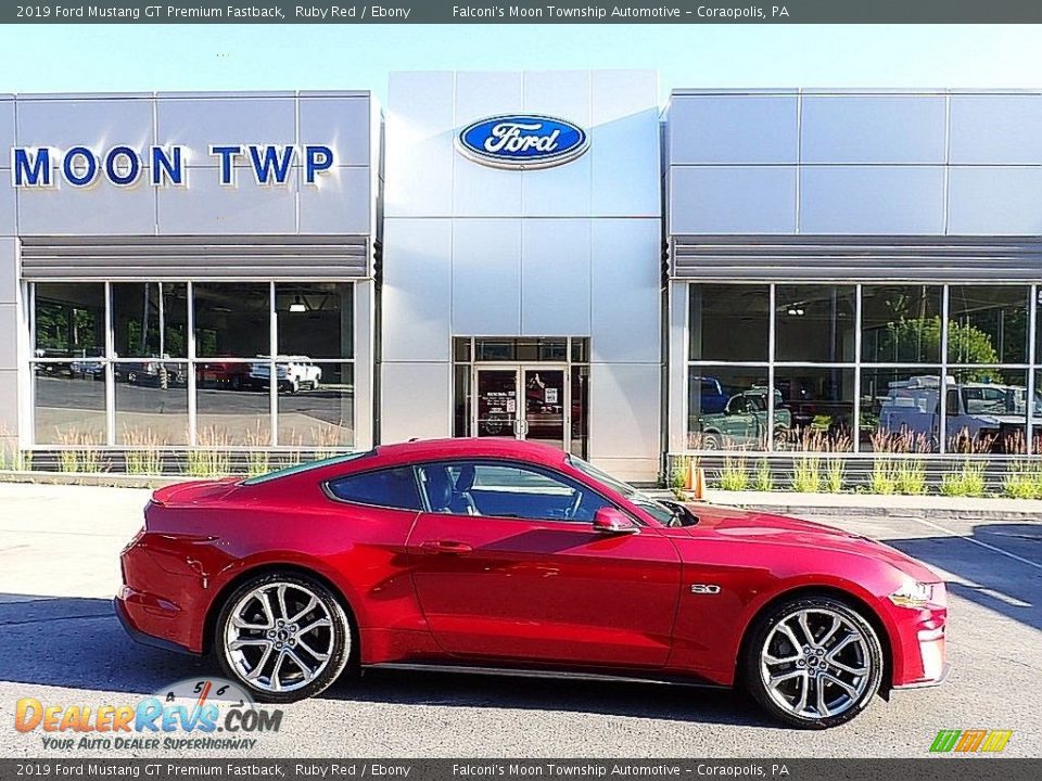
[[[457,338],[456,436],[529,439],[585,458],[588,342]]]

